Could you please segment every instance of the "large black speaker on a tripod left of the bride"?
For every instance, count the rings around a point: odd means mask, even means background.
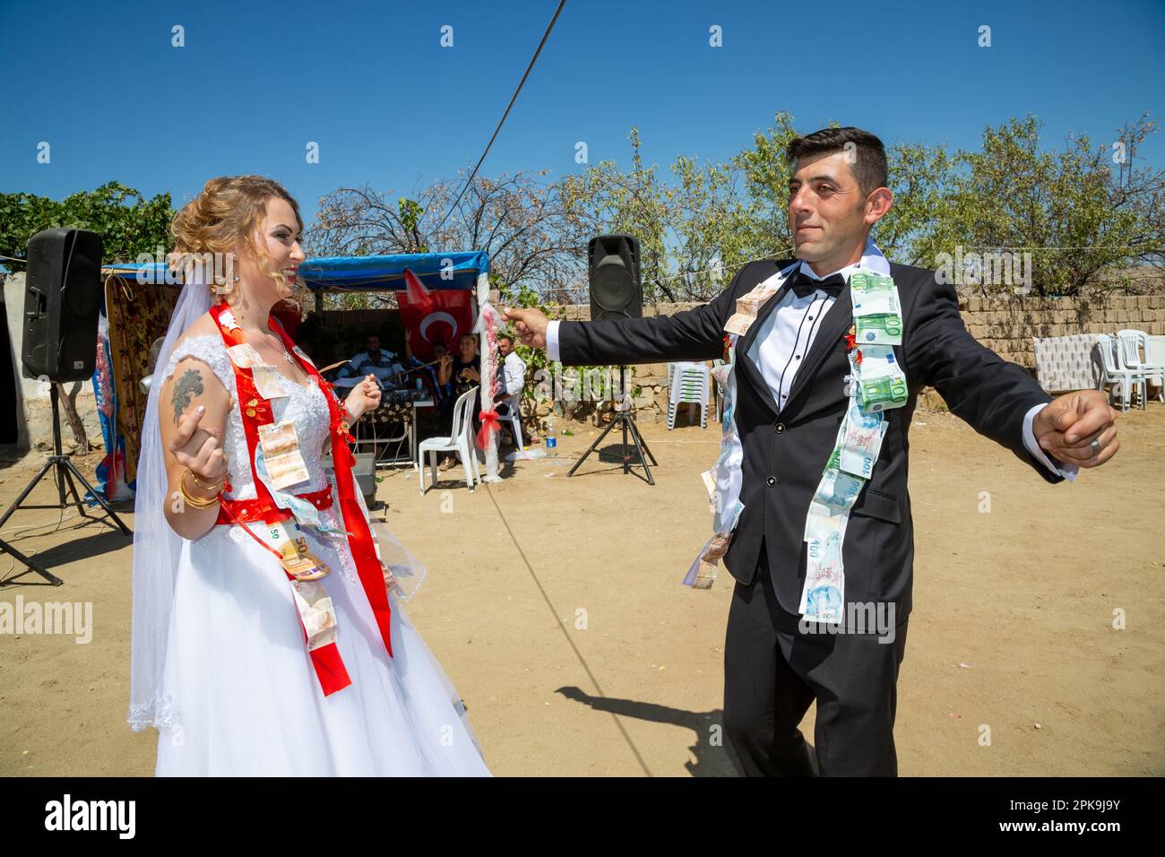
[[[101,237],[85,230],[37,232],[28,241],[24,279],[27,378],[83,381],[97,364],[101,307]]]

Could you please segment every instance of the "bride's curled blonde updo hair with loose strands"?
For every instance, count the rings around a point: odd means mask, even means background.
[[[202,192],[186,203],[174,216],[170,233],[174,236],[174,254],[171,265],[185,254],[205,257],[213,254],[216,259],[225,259],[239,244],[246,248],[264,276],[275,281],[277,290],[287,286],[283,272],[275,271],[264,247],[255,245],[255,231],[267,215],[267,203],[278,197],[291,206],[296,222],[303,230],[303,218],[299,216],[299,204],[287,189],[274,178],[264,176],[219,176],[203,185]],[[216,265],[213,275],[207,278],[211,283],[233,286]],[[210,286],[213,289],[213,285]],[[213,291],[212,291],[213,294]],[[238,293],[227,293],[227,301],[233,302]]]

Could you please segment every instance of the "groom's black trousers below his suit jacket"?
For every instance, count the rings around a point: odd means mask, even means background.
[[[817,700],[821,775],[897,775],[894,715],[909,619],[890,642],[874,628],[803,633],[777,604],[763,547],[751,583],[736,583],[725,644],[725,731],[744,773],[814,773],[798,724]]]

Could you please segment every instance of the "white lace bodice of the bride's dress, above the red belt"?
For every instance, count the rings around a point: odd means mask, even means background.
[[[305,357],[298,347],[296,347],[296,353]],[[242,414],[239,409],[239,395],[234,384],[234,368],[231,366],[231,358],[223,343],[223,337],[207,333],[191,336],[178,343],[165,364],[162,378],[169,378],[174,374],[175,366],[186,357],[196,357],[210,366],[214,377],[231,395],[231,412],[226,421],[224,449],[230,462],[233,491],[225,493],[224,497],[231,500],[253,500],[256,497],[255,480],[247,456],[247,438],[242,431]],[[287,391],[287,395],[271,400],[275,422],[283,420],[295,422],[296,433],[299,436],[299,451],[303,455],[309,476],[308,482],[291,485],[288,491],[295,494],[319,491],[327,485],[323,466],[324,444],[327,442],[331,430],[327,400],[313,379],[309,380],[306,387],[284,378],[282,374],[278,375],[278,379]]]

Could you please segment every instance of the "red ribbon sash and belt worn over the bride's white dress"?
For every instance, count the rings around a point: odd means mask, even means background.
[[[242,345],[242,330],[239,328],[227,329],[221,321],[221,314],[226,309],[227,307],[223,303],[214,304],[210,310],[211,317],[218,324],[219,331],[223,333],[223,340],[227,347]],[[324,393],[324,399],[327,401],[336,489],[340,499],[344,528],[348,534],[348,547],[352,550],[352,560],[355,563],[365,596],[368,598],[373,614],[376,618],[381,639],[384,641],[384,649],[391,656],[393,645],[389,635],[391,607],[388,602],[388,588],[384,585],[384,575],[381,571],[380,560],[376,557],[376,548],[373,545],[368,521],[355,496],[355,480],[352,477],[352,465],[355,464],[355,457],[347,445],[352,440],[352,435],[348,434],[347,415],[344,410],[344,405],[337,398],[336,391],[320,377],[316,367],[296,353],[295,343],[288,336],[287,331],[283,330],[283,325],[278,324],[274,317],[268,321],[268,325],[280,336],[288,353],[292,354],[301,368],[303,368],[309,378],[313,379],[315,384]],[[220,506],[225,506],[228,513],[235,514],[238,520],[264,520],[268,522],[273,522],[269,519],[287,520],[291,517],[290,511],[281,510],[275,505],[275,500],[270,491],[268,491],[267,485],[263,484],[263,480],[259,478],[259,473],[255,472],[255,448],[259,445],[259,427],[270,424],[275,421],[270,401],[259,394],[250,368],[240,368],[234,361],[231,363],[231,366],[234,370],[234,381],[239,396],[239,415],[242,419],[242,429],[247,437],[247,452],[252,476],[254,477],[256,499],[227,500],[224,498],[220,501]],[[324,505],[325,500],[320,497],[322,493],[312,492],[303,494],[303,497],[317,506],[317,508],[327,508],[331,506],[331,491],[327,491],[326,505]],[[290,575],[288,575],[288,578],[294,579]],[[306,630],[304,630],[304,640],[306,640]],[[348,677],[347,670],[344,668],[344,661],[340,659],[339,649],[334,642],[312,649],[311,660],[316,667],[316,675],[324,690],[324,696],[346,688],[352,683],[352,679]]]

